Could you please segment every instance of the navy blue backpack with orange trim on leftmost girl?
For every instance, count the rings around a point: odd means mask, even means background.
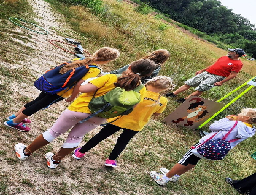
[[[72,61],[63,63],[53,69],[48,70],[34,82],[34,86],[44,93],[51,95],[56,94],[62,90],[67,88],[70,89],[72,86],[74,86],[77,81],[82,79],[82,77],[89,71],[91,67],[100,69],[95,65],[86,65],[73,68],[64,74],[60,74],[60,69],[71,62]]]

